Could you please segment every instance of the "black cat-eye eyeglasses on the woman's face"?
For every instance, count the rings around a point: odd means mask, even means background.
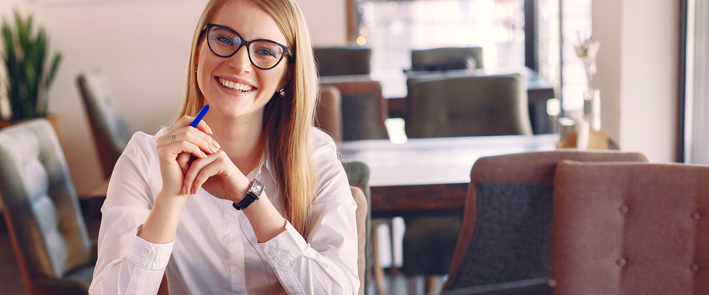
[[[272,40],[257,39],[246,41],[235,30],[223,25],[208,23],[202,34],[207,33],[207,45],[219,57],[230,57],[242,46],[246,46],[251,64],[259,69],[273,69],[281,62],[289,48]]]

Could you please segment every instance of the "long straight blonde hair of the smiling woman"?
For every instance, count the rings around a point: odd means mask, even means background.
[[[233,0],[211,0],[199,18],[192,38],[187,71],[186,97],[182,105],[183,115],[194,116],[204,103],[204,96],[197,85],[197,52],[203,42],[202,29],[216,18],[219,9]],[[294,228],[308,236],[308,210],[315,193],[316,175],[313,166],[313,151],[310,127],[318,94],[318,82],[313,47],[305,18],[293,0],[250,0],[261,7],[276,21],[286,37],[290,56],[292,80],[286,83],[286,96],[276,96],[264,107],[263,134],[271,157],[276,182],[281,193],[281,206]]]

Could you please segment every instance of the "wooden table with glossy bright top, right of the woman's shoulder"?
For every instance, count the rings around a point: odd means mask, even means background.
[[[342,141],[342,161],[369,166],[372,217],[459,214],[478,158],[556,149],[558,134]]]

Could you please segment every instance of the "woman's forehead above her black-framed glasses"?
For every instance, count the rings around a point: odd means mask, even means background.
[[[226,2],[219,8],[212,23],[228,26],[246,40],[268,39],[286,43],[286,37],[281,33],[276,21],[250,0]]]

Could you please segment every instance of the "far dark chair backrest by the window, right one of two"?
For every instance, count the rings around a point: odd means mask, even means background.
[[[474,61],[474,66],[472,67],[467,65],[470,58]],[[413,71],[445,71],[482,68],[482,47],[444,47],[411,51],[411,69]]]

